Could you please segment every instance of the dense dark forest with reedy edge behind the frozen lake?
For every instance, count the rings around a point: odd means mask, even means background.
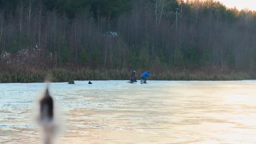
[[[0,0],[0,83],[253,79],[255,36],[215,0]]]

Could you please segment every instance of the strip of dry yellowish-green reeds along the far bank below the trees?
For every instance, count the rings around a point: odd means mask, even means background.
[[[140,75],[147,71],[137,69]],[[148,69],[152,76],[149,80],[184,80],[184,81],[229,81],[255,80],[256,75],[250,72],[206,72],[202,70],[163,70]],[[128,80],[132,69],[88,69],[88,68],[35,68],[6,67],[0,70],[0,83],[43,83],[48,77],[51,82],[68,82],[69,80]]]

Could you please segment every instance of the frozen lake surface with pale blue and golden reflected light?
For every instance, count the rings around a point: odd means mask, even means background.
[[[51,83],[65,119],[58,144],[255,144],[256,81]],[[40,143],[45,83],[0,83],[0,144]]]

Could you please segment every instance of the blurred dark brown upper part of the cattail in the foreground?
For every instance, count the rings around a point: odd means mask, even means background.
[[[40,100],[40,120],[53,120],[53,99],[46,88],[43,98]]]

